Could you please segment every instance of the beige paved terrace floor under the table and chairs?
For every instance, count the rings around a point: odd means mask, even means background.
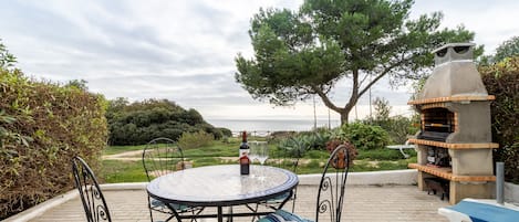
[[[316,191],[316,186],[298,187],[295,213],[314,220]],[[106,190],[103,193],[114,222],[150,221],[145,190]],[[347,186],[341,221],[447,221],[437,213],[438,208],[446,205],[448,201],[439,200],[438,195],[427,195],[427,192],[419,191],[416,186]],[[286,209],[290,208],[291,202],[286,205]],[[86,221],[79,197],[30,220],[30,222],[50,221]],[[235,221],[249,222],[251,219],[239,218]]]

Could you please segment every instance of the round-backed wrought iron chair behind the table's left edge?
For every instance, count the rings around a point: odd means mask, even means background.
[[[160,177],[186,168],[186,160],[181,148],[169,138],[156,138],[149,141],[143,150],[143,167],[148,182]],[[184,204],[166,204],[148,195],[149,216],[153,222],[153,211],[169,214],[166,221],[172,220],[178,213],[201,212],[203,208],[194,208]]]

